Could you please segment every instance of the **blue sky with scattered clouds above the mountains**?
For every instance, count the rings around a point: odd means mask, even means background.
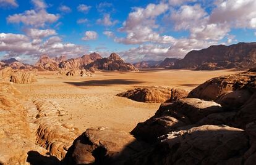
[[[126,62],[183,58],[254,42],[255,0],[0,0],[0,59],[116,52]]]

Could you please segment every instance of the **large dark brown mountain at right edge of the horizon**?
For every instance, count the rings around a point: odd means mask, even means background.
[[[240,42],[231,46],[218,45],[192,50],[172,68],[220,70],[254,66],[256,66],[256,42]]]

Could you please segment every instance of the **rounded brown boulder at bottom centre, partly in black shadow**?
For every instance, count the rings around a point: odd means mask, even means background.
[[[64,164],[120,164],[147,145],[118,129],[87,129],[69,148]]]

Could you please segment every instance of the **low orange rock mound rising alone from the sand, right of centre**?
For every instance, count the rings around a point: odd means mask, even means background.
[[[174,102],[177,99],[187,97],[187,92],[184,89],[170,88],[170,87],[139,87],[127,92],[117,94],[119,97],[127,97],[128,99],[137,102],[147,103],[163,103]]]

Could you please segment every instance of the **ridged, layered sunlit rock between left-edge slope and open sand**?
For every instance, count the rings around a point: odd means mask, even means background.
[[[57,117],[64,115],[63,109],[56,102],[50,100],[35,100],[38,114],[35,123],[36,143],[48,150],[49,155],[58,159],[64,158],[68,148],[78,136],[78,129],[72,124],[61,124]]]

